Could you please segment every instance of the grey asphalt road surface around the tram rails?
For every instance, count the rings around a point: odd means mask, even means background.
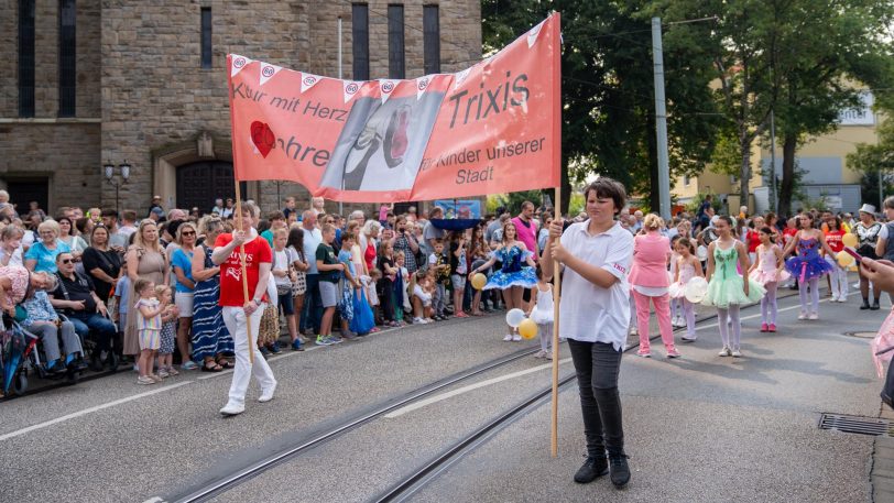
[[[787,308],[796,298],[783,300]],[[710,315],[708,308],[702,314]],[[548,406],[513,423],[414,495],[416,501],[868,501],[872,438],[817,429],[821,412],[876,416],[868,340],[885,311],[824,303],[781,314],[762,335],[743,310],[743,352],[717,357],[713,321],[684,358],[629,352],[621,375],[633,479],[577,485],[582,433],[574,386],[560,395],[559,458]],[[222,419],[228,374],[186,372],[137,386],[131,372],[0,403],[0,501],[170,501],[344,418],[536,342],[502,342],[502,316],[408,327],[272,361],[276,398]],[[653,354],[663,348],[653,341]],[[567,349],[563,347],[564,357]],[[526,357],[373,420],[216,501],[366,501],[480,424],[548,385]],[[562,372],[571,371],[564,363]],[[210,379],[206,379],[212,376]],[[469,387],[472,386],[472,387]],[[446,394],[453,392],[451,394]]]

